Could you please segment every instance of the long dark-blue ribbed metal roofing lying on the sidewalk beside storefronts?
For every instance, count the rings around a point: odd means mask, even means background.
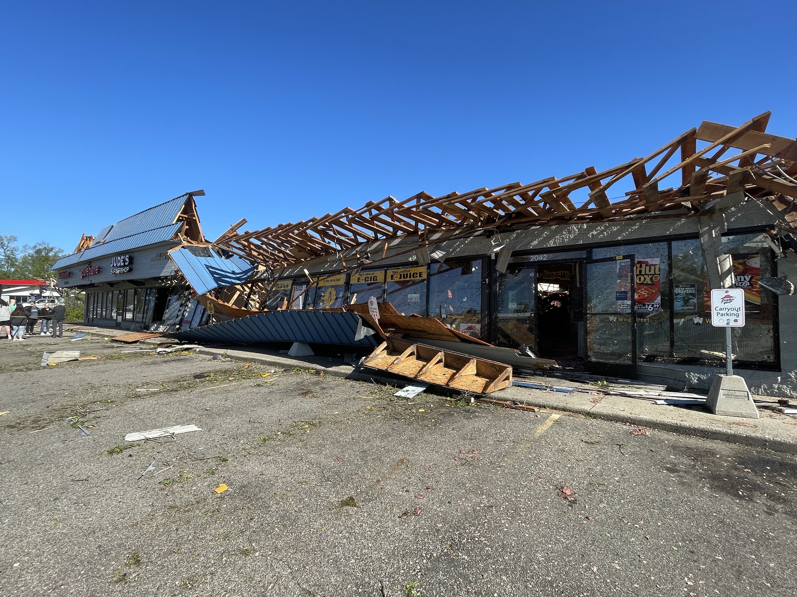
[[[378,334],[355,340],[360,318],[348,311],[285,310],[249,315],[193,330],[172,332],[171,338],[190,342],[308,342],[347,346],[376,346]]]

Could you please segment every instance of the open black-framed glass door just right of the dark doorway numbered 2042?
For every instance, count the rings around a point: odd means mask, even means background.
[[[634,255],[587,261],[587,371],[635,379]]]

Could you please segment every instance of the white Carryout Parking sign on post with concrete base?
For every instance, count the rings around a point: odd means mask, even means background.
[[[711,291],[711,325],[725,328],[725,375],[714,378],[705,404],[715,415],[758,419],[744,377],[733,375],[731,328],[744,327],[744,289],[715,288]]]

